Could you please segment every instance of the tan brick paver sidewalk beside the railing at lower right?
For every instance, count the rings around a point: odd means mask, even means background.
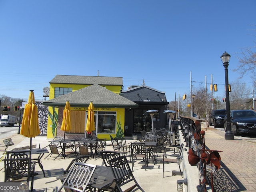
[[[202,129],[204,130],[204,129]],[[208,133],[208,134],[207,134]],[[220,150],[221,169],[217,174],[217,191],[256,192],[256,144],[240,140],[225,140],[225,132],[210,129],[205,134],[205,144],[210,150]]]

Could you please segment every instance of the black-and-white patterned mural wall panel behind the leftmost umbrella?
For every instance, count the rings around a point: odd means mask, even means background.
[[[40,135],[45,135],[47,134],[48,106],[42,105],[41,102],[36,102],[36,105],[38,106]]]

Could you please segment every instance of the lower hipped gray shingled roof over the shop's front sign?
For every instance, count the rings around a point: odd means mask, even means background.
[[[51,100],[42,102],[46,106],[65,106],[66,101],[70,102],[71,107],[88,107],[92,101],[94,107],[137,107],[138,104],[113,93],[112,91],[94,84],[80,90],[53,98]]]

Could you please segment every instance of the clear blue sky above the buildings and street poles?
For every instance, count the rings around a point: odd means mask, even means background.
[[[0,0],[0,95],[28,99],[61,75],[118,76],[124,90],[142,85],[168,101],[218,84],[220,56],[238,78],[241,48],[254,46],[255,0]],[[251,74],[240,81],[252,86]]]

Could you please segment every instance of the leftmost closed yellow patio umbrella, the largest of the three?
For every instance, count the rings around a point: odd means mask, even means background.
[[[38,108],[35,105],[33,90],[30,90],[28,103],[25,105],[20,134],[30,137],[30,150],[32,148],[32,137],[40,134],[38,124]]]

